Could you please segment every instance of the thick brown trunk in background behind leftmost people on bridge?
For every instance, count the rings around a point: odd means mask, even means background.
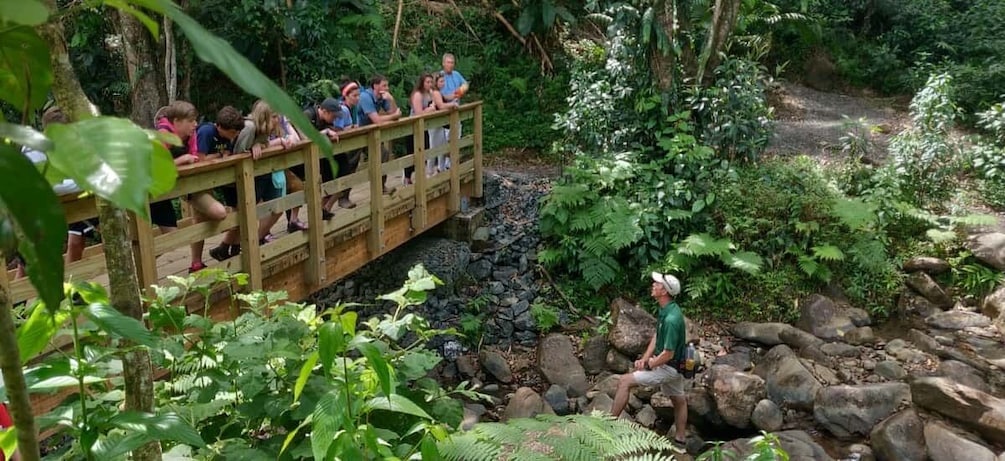
[[[119,12],[119,28],[126,50],[126,74],[130,81],[130,119],[141,127],[153,127],[154,116],[168,100],[161,62],[150,31],[137,18]]]

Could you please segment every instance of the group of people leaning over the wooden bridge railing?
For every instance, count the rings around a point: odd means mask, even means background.
[[[419,76],[409,95],[409,116],[459,106],[460,98],[467,91],[468,83],[454,65],[454,55],[447,53],[443,55],[441,70],[424,72]],[[348,77],[343,78],[339,91],[339,94],[329,95],[320,103],[309,104],[304,110],[313,128],[332,142],[338,142],[340,134],[354,129],[387,124],[403,117],[401,106],[389,90],[388,79],[383,75],[372,76],[366,86]],[[286,148],[306,139],[299,128],[293,127],[286,117],[273,110],[264,100],[256,101],[247,116],[231,105],[225,105],[217,111],[214,122],[201,125],[198,122],[199,113],[192,103],[176,100],[161,107],[154,119],[154,127],[158,131],[173,134],[181,140],[178,146],[165,146],[170,151],[176,167],[224,158],[235,153],[250,153],[253,159],[258,159],[264,149]],[[43,127],[66,122],[66,117],[59,107],[50,107],[42,116]],[[428,129],[424,137],[425,149],[446,144],[448,137],[449,128]],[[407,151],[414,152],[411,140],[408,145]],[[25,149],[24,154],[35,164],[45,162],[45,155],[41,152]],[[331,162],[323,159],[320,165],[322,181],[329,182],[354,173],[359,167],[362,154],[363,150],[358,150],[336,155],[334,168]],[[390,150],[386,146],[382,147],[381,154],[381,162],[390,159]],[[425,174],[432,176],[449,168],[449,158],[440,155],[427,160]],[[414,168],[406,168],[402,174],[403,184],[411,184],[414,174]],[[304,165],[256,177],[254,181],[256,201],[267,202],[282,197],[287,191],[303,190],[305,179]],[[386,176],[382,178],[382,183],[384,193],[390,193]],[[80,192],[72,180],[64,180],[53,188],[57,194]],[[336,205],[343,209],[356,207],[350,200],[349,192],[345,190],[323,199],[322,217],[325,220],[335,216]],[[237,207],[237,187],[227,185],[215,191],[191,194],[187,197],[187,201],[193,210],[196,222],[222,221],[227,216],[226,207]],[[308,229],[309,224],[300,220],[299,211],[300,207],[294,207],[285,212],[288,232]],[[281,216],[282,213],[271,213],[259,220],[257,237],[261,244],[273,239],[272,228]],[[178,214],[171,200],[151,203],[150,217],[151,222],[157,225],[162,233],[178,228]],[[93,236],[97,224],[96,219],[69,224],[64,254],[67,263],[82,258],[86,238]],[[191,245],[190,273],[206,267],[203,250],[202,241]],[[239,230],[233,228],[226,232],[220,245],[209,250],[209,254],[214,259],[223,261],[240,254],[240,251]],[[24,264],[20,258],[15,256],[11,265],[17,268],[15,277],[24,275]]]

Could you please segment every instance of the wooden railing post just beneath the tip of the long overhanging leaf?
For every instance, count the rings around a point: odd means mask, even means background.
[[[307,281],[318,288],[325,284],[325,221],[321,217],[321,155],[314,143],[304,151],[304,196],[311,223],[308,227]]]

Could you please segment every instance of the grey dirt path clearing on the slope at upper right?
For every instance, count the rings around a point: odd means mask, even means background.
[[[889,137],[908,122],[907,101],[898,98],[822,92],[798,83],[783,83],[769,98],[776,117],[770,154],[805,154],[832,161],[848,131],[844,124],[858,119],[879,128],[872,139],[877,152],[884,154]]]

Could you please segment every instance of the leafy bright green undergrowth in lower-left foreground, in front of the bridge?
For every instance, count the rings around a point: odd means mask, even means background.
[[[436,459],[436,442],[460,423],[457,398],[480,398],[466,384],[445,390],[427,377],[442,359],[425,341],[451,331],[407,311],[439,283],[421,266],[380,297],[396,305],[392,312],[365,321],[346,305],[319,313],[285,302],[284,293],[233,291],[245,281],[218,270],[175,278],[151,300],[152,329],[110,307],[92,283],[69,288],[68,297],[82,302],[31,309],[18,334],[26,357],[66,324],[74,344],[25,373],[31,392],[77,391],[41,419],[43,430],[72,436],[50,457],[121,459],[162,440],[176,455],[199,459]],[[224,322],[186,313],[191,296],[220,286],[244,313]],[[150,348],[170,372],[159,383],[156,414],[119,411],[126,340]]]

